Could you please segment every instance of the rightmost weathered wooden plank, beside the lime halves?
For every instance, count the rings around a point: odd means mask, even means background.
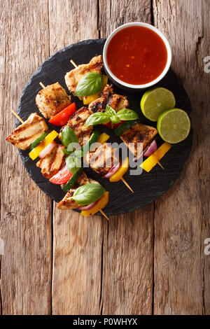
[[[209,1],[153,1],[154,22],[172,45],[172,67],[191,99],[194,146],[179,181],[156,202],[155,314],[210,313]]]

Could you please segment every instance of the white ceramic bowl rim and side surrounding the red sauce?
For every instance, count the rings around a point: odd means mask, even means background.
[[[130,83],[125,83],[124,81],[120,80],[109,69],[109,66],[108,66],[107,60],[106,60],[106,51],[107,51],[108,45],[111,41],[111,38],[113,38],[113,36],[116,33],[118,33],[118,31],[120,31],[121,29],[125,29],[126,27],[132,27],[132,26],[148,27],[148,29],[155,31],[158,34],[158,36],[160,36],[160,38],[162,38],[162,41],[165,43],[165,46],[167,48],[167,64],[165,66],[165,69],[162,71],[160,76],[158,76],[158,78],[156,78],[155,80],[153,80],[149,83],[145,83],[144,85],[132,85]],[[172,50],[169,45],[169,41],[167,41],[167,38],[162,34],[161,31],[159,31],[159,29],[156,29],[156,27],[153,27],[153,25],[150,25],[150,24],[147,24],[144,22],[130,22],[130,23],[121,25],[120,27],[115,29],[110,34],[110,36],[106,39],[106,43],[104,45],[104,50],[103,50],[103,60],[104,60],[104,69],[113,83],[115,83],[116,85],[118,85],[120,87],[123,87],[123,89],[137,91],[137,90],[141,90],[144,88],[152,87],[166,75],[167,71],[169,71],[169,67],[171,66],[171,62],[172,62]]]

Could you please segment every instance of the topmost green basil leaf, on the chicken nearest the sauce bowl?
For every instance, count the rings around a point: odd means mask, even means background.
[[[83,76],[76,86],[76,96],[90,96],[102,89],[102,74],[89,72]]]

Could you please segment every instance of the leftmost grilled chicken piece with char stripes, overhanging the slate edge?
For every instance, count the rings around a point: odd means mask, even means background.
[[[29,118],[18,126],[6,140],[21,150],[27,150],[38,136],[48,131],[45,120],[36,113],[31,113]]]

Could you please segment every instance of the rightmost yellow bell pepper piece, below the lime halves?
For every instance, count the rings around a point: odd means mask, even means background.
[[[141,163],[140,167],[143,168],[146,172],[150,172],[155,165],[157,165],[158,161],[164,157],[164,155],[169,151],[172,147],[172,144],[164,143],[155,151],[150,157],[148,157],[143,163]]]

